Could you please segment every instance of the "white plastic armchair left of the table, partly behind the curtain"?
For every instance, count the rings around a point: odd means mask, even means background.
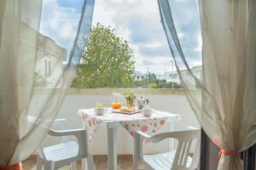
[[[45,170],[55,170],[64,165],[71,164],[71,169],[76,170],[76,161],[82,159],[82,169],[84,170],[85,161],[88,161],[88,168],[95,169],[92,156],[88,151],[87,135],[84,129],[68,130],[67,120],[56,119],[52,125],[53,129],[49,129],[49,135],[59,136],[60,144],[43,147],[42,144],[38,147],[37,169],[41,170],[44,164]],[[73,141],[67,136],[75,136],[78,140]],[[87,158],[87,160],[85,160]]]

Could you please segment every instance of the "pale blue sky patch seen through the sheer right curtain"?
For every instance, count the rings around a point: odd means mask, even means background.
[[[193,65],[192,60],[201,61],[201,27],[200,14],[197,0],[173,0],[170,1],[172,9],[172,17],[179,37],[179,41],[183,47],[183,52]]]

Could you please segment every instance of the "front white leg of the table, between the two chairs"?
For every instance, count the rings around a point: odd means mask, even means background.
[[[108,128],[108,170],[117,170],[117,129]]]

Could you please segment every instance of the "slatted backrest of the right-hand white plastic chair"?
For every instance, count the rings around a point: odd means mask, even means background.
[[[177,139],[178,144],[171,170],[195,170],[199,166],[201,130],[180,131],[178,135],[175,136],[175,139]],[[187,167],[190,154],[189,150],[191,150],[193,140],[195,140],[195,151],[192,156],[191,164]]]

